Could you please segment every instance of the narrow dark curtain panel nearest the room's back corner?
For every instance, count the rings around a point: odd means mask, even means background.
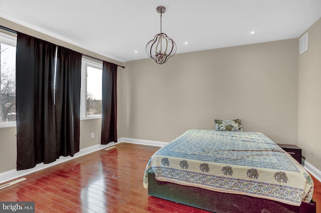
[[[101,144],[117,142],[117,65],[103,61]]]

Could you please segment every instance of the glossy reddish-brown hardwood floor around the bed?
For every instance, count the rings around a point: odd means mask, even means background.
[[[35,201],[36,212],[208,212],[147,195],[144,168],[157,146],[119,143],[26,175],[1,201]],[[321,183],[313,178],[321,213]]]

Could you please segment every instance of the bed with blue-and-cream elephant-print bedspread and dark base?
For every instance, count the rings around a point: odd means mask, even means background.
[[[259,132],[190,129],[150,157],[143,185],[215,212],[315,212],[308,172]]]

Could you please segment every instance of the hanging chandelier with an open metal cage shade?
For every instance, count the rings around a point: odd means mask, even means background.
[[[162,14],[166,11],[165,6],[157,6],[156,11],[161,14],[161,33],[155,35],[146,45],[146,53],[156,63],[165,63],[176,53],[176,43],[167,34],[162,32]]]

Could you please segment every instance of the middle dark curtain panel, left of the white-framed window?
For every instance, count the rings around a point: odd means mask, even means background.
[[[58,46],[56,71],[57,157],[79,151],[82,54]]]

